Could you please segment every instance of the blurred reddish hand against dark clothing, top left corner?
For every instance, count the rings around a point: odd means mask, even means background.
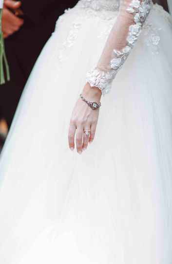
[[[23,19],[18,18],[9,10],[12,9],[15,11],[19,9],[20,5],[21,2],[19,1],[17,2],[13,0],[4,1],[4,7],[2,12],[2,32],[4,38],[7,38],[8,36],[18,31],[24,22]]]

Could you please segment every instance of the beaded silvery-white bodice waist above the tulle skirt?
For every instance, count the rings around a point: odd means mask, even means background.
[[[96,11],[116,11],[119,9],[120,0],[80,0],[84,8],[92,8]]]

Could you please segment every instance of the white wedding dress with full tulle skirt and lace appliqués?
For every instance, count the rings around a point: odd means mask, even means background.
[[[80,0],[39,56],[0,158],[0,264],[172,264],[172,20],[151,0],[120,10]],[[78,155],[88,71],[111,91]]]

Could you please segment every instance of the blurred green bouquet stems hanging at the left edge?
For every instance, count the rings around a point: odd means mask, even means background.
[[[2,18],[2,9],[0,9],[0,85],[5,83],[4,70],[6,72],[7,81],[10,80],[9,66],[5,55],[3,33],[1,30],[1,18]]]

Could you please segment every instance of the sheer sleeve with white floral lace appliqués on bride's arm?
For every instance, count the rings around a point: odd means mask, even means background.
[[[91,87],[103,94],[109,92],[118,70],[123,66],[136,44],[152,7],[152,0],[120,0],[120,10],[100,60],[87,73]]]

